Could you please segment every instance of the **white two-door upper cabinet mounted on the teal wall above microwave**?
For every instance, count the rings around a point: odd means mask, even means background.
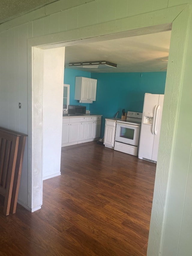
[[[75,78],[75,100],[80,103],[93,103],[96,100],[97,79],[87,77]]]

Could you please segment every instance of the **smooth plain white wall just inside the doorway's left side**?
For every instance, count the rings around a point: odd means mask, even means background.
[[[61,174],[64,47],[44,50],[43,179]]]

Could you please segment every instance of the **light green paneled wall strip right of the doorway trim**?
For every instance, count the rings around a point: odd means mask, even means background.
[[[188,17],[188,19],[186,19]],[[185,28],[185,29],[184,29]],[[184,29],[183,31],[181,31]],[[186,37],[182,43],[171,42],[172,49],[184,48],[184,62],[178,63],[178,69],[181,71],[174,74],[172,70],[170,76],[167,78],[167,83],[171,83],[174,76],[179,76],[181,85],[175,87],[173,93],[178,92],[181,96],[176,113],[177,127],[174,134],[174,150],[171,162],[170,176],[168,180],[167,193],[167,209],[166,209],[166,223],[163,236],[162,255],[185,255],[192,254],[192,221],[189,218],[192,214],[192,207],[189,201],[192,200],[192,168],[191,168],[191,145],[192,145],[192,87],[190,66],[192,59],[192,21],[191,21],[191,6],[186,8],[181,15],[173,22],[173,30],[175,34],[173,38],[178,37],[178,34],[183,34]],[[176,43],[176,44],[175,44]],[[174,51],[174,52],[175,52]],[[176,61],[174,52],[170,51],[172,62]],[[183,58],[178,54],[177,58]],[[179,56],[180,55],[180,56]],[[180,68],[179,68],[180,66]],[[167,88],[169,90],[169,87]],[[166,93],[166,91],[165,91]],[[169,94],[169,91],[167,91]],[[168,113],[165,113],[166,118]],[[173,120],[174,121],[174,120]],[[166,136],[165,132],[161,134]],[[164,150],[161,143],[161,150]],[[170,246],[171,245],[171,246]]]

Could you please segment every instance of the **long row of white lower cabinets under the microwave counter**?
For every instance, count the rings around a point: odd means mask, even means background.
[[[63,118],[61,147],[95,140],[101,134],[101,116]]]

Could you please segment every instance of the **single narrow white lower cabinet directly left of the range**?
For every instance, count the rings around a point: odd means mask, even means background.
[[[116,120],[105,119],[104,145],[108,148],[114,148],[115,130]]]

